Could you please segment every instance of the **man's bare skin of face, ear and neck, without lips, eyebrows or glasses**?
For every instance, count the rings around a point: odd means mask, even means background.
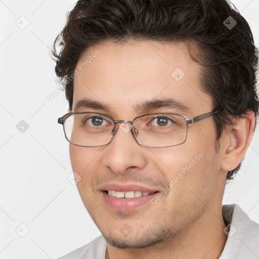
[[[168,97],[189,109],[160,108],[149,113],[177,112],[189,119],[213,110],[212,98],[202,92],[202,68],[189,57],[185,42],[107,41],[85,49],[77,65],[96,49],[100,54],[74,79],[73,111],[133,120],[146,114],[135,111],[138,104]],[[176,68],[185,73],[179,82],[171,76]],[[82,98],[102,102],[110,110],[75,110]],[[227,240],[221,210],[227,171],[242,160],[253,127],[252,112],[228,126],[218,153],[213,116],[189,125],[186,142],[169,148],[142,147],[120,128],[105,147],[70,144],[72,168],[81,177],[78,191],[108,242],[109,258],[219,258]],[[162,192],[200,153],[203,157],[155,205],[148,202],[122,212],[111,209],[102,198],[100,188],[107,183],[139,184]],[[127,237],[120,231],[124,224],[132,230]]]

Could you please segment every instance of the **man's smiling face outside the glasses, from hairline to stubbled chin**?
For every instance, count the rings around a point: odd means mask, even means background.
[[[93,55],[97,49],[100,53]],[[154,41],[108,41],[89,47],[77,63],[91,59],[80,66],[81,71],[77,69],[73,111],[100,112],[114,120],[130,121],[147,113],[180,113],[190,119],[211,112],[212,98],[202,92],[201,67],[188,53],[184,43]],[[168,98],[187,108],[136,111],[143,103]],[[109,109],[75,109],[82,99]],[[105,147],[70,144],[72,168],[81,177],[77,184],[80,196],[109,243],[137,248],[184,235],[195,222],[205,220],[207,207],[221,204],[218,189],[224,181],[219,177],[221,154],[215,152],[213,117],[189,125],[182,145],[157,149],[140,146],[132,133],[125,133],[119,125],[113,141]],[[107,190],[151,194],[116,198]],[[160,198],[159,193],[163,193]]]

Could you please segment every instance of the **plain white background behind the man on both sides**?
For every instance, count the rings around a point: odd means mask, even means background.
[[[57,123],[68,103],[63,92],[55,95],[55,63],[49,56],[74,3],[0,1],[1,259],[55,259],[100,235],[76,186],[68,181],[72,172],[68,142]],[[233,3],[251,25],[259,46],[259,0]],[[55,96],[52,101],[50,95]],[[257,128],[223,201],[239,204],[257,223],[258,160]]]

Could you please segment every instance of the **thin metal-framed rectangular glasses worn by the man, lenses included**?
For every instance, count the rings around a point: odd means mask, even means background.
[[[208,118],[221,110],[208,112],[192,119],[178,113],[155,113],[136,117],[133,121],[114,120],[99,112],[70,112],[58,119],[66,139],[80,147],[103,147],[113,140],[119,128],[132,132],[139,145],[166,148],[183,144],[187,139],[188,124]]]

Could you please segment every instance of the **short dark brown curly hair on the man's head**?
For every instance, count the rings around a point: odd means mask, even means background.
[[[236,23],[233,28],[227,26],[230,21]],[[189,40],[200,47],[200,53],[190,54],[204,67],[203,90],[212,97],[214,110],[223,109],[214,115],[217,141],[231,123],[229,115],[240,117],[250,110],[257,117],[258,51],[248,23],[226,0],[78,1],[52,51],[70,110],[71,76],[80,53],[106,40],[127,39]],[[233,179],[240,165],[228,172],[228,180]]]

